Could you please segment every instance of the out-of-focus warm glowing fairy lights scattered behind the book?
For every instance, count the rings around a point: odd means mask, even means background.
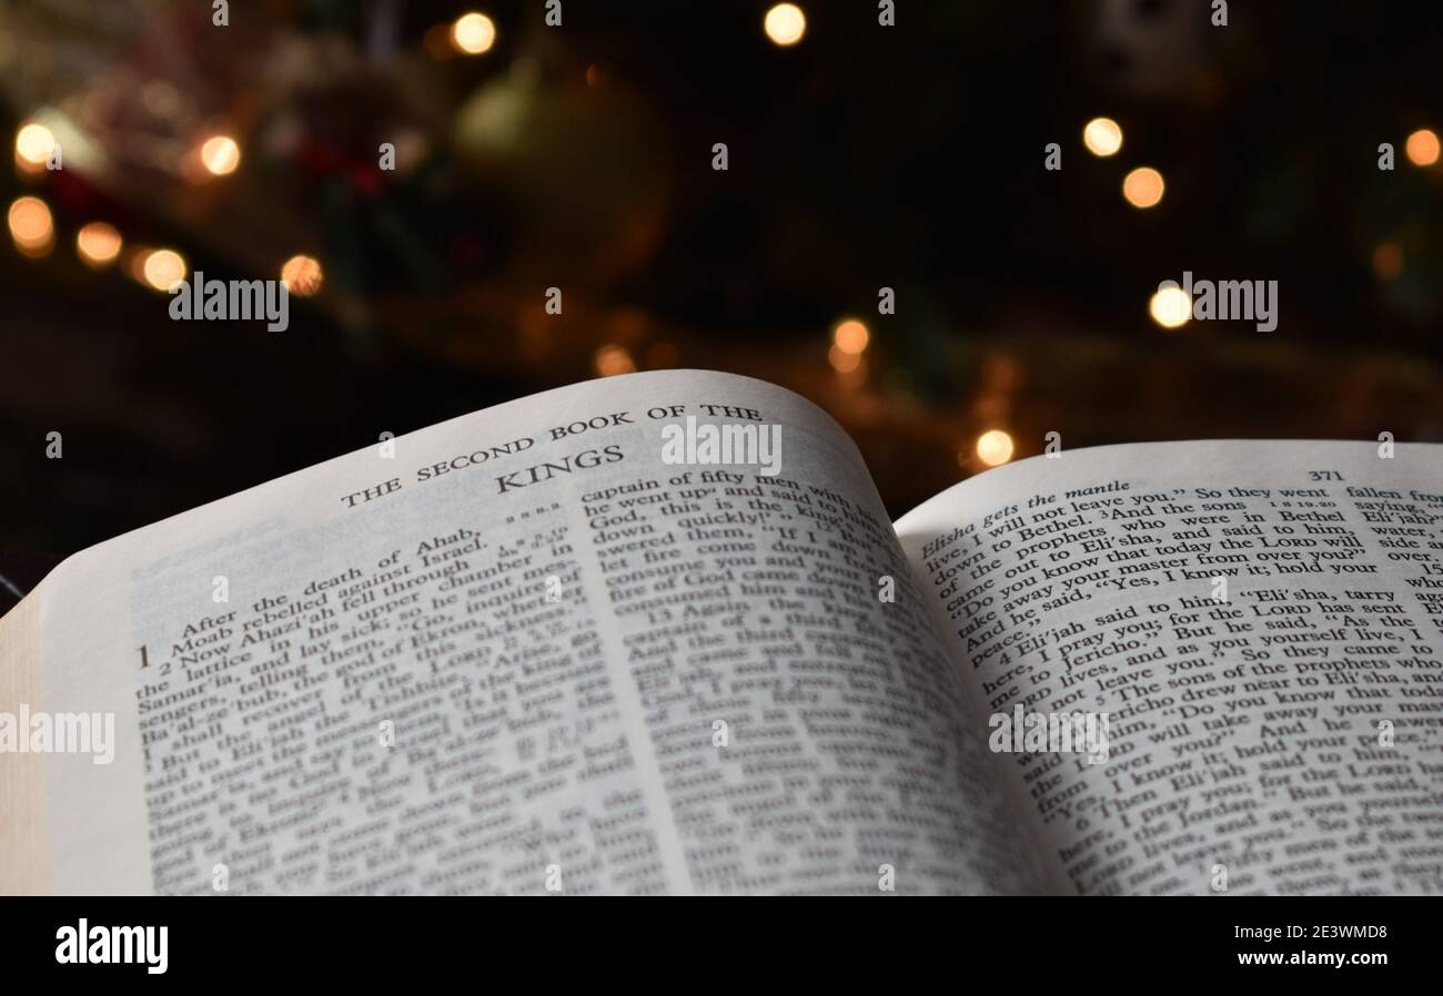
[[[762,30],[778,48],[795,46],[807,35],[807,14],[795,3],[775,4],[762,19]],[[434,25],[421,39],[426,52],[436,59],[481,56],[495,43],[495,22],[475,10],[462,13],[449,23]],[[36,112],[16,131],[14,164],[25,180],[42,180],[49,170],[56,169],[61,144],[42,117],[42,112]],[[1123,127],[1108,117],[1092,118],[1082,128],[1082,144],[1098,159],[1118,156],[1124,147]],[[1404,154],[1416,167],[1436,166],[1440,159],[1437,133],[1430,128],[1413,131],[1404,144]],[[235,135],[205,134],[198,137],[176,166],[177,173],[189,182],[208,183],[224,182],[240,169],[241,161],[241,143]],[[1163,174],[1153,166],[1134,166],[1123,176],[1123,199],[1134,209],[1156,208],[1165,193]],[[14,248],[23,257],[42,259],[55,249],[55,218],[43,197],[36,195],[16,197],[10,203],[7,223]],[[159,293],[169,293],[189,274],[189,262],[179,249],[131,245],[114,225],[104,221],[82,223],[75,232],[74,248],[87,267],[104,270],[118,265],[136,283]],[[1380,244],[1372,255],[1372,268],[1384,280],[1397,277],[1403,268],[1401,248],[1395,242]],[[306,254],[296,254],[280,262],[278,275],[297,297],[319,294],[325,283],[322,262]],[[1163,287],[1149,300],[1147,311],[1162,329],[1176,330],[1190,320],[1192,300],[1180,287]],[[870,342],[872,333],[860,319],[844,317],[833,326],[827,360],[844,386],[856,388],[866,383]],[[674,347],[667,349],[674,352]],[[593,366],[599,376],[631,373],[636,369],[631,352],[615,343],[596,350]],[[974,467],[977,461],[994,467],[1012,460],[1014,448],[1013,438],[1006,430],[988,428],[958,450],[957,461],[964,468]]]

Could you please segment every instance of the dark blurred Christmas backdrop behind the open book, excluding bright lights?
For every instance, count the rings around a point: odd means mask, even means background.
[[[1205,437],[1443,438],[1437,4],[1203,0],[479,3],[6,0],[0,164],[53,246],[0,245],[0,549],[59,556],[341,453],[605,372],[789,386],[861,447],[893,515],[1016,457]],[[1084,124],[1117,120],[1100,159]],[[232,135],[235,173],[186,167]],[[377,147],[400,169],[381,173]],[[713,143],[730,169],[711,169]],[[1043,169],[1045,146],[1062,170]],[[1397,150],[1378,169],[1380,143]],[[1136,166],[1156,208],[1121,196]],[[84,265],[76,231],[126,249]],[[219,278],[315,257],[290,327],[172,321],[130,270]],[[1280,321],[1147,311],[1162,280],[1277,280]],[[543,310],[560,287],[564,314]],[[896,314],[877,314],[892,287]],[[838,320],[872,336],[828,359]],[[63,457],[46,458],[61,432]]]

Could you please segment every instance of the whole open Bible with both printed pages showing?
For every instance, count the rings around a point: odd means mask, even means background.
[[[1440,724],[1437,447],[889,523],[810,402],[638,373],[65,561],[0,620],[0,892],[1437,892]]]

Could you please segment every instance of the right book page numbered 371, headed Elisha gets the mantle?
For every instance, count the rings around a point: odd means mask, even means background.
[[[1059,891],[1443,891],[1443,448],[1062,451],[896,529],[978,724],[1107,716],[999,738]]]

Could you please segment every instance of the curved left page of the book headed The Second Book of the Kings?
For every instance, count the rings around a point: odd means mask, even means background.
[[[758,381],[378,443],[0,623],[36,748],[0,754],[0,892],[1036,891],[909,578],[851,441]]]

